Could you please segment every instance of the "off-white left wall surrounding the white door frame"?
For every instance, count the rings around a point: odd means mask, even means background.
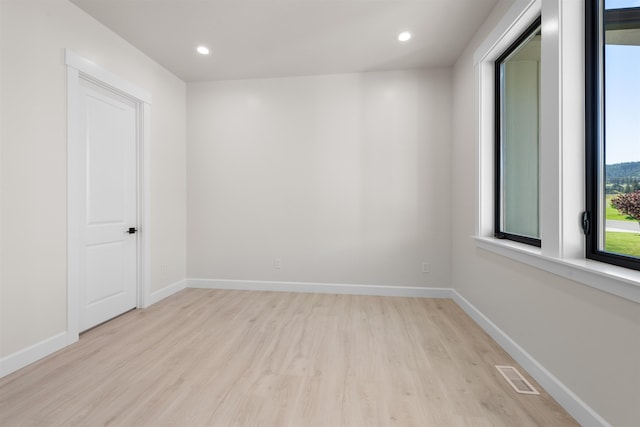
[[[151,107],[151,288],[186,275],[185,84],[66,0],[2,0],[0,357],[66,329],[64,48]]]

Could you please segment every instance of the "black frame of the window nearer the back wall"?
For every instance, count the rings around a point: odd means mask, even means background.
[[[504,52],[495,60],[494,64],[494,120],[495,120],[495,189],[494,189],[494,235],[498,239],[513,240],[514,242],[524,243],[531,246],[541,247],[542,240],[538,237],[529,237],[519,234],[507,233],[502,230],[503,220],[503,188],[502,188],[502,165],[503,165],[503,151],[502,151],[502,88],[501,88],[501,72],[500,64],[504,62],[513,52],[519,49],[523,42],[525,42],[531,35],[537,31],[542,24],[542,16],[538,16],[522,34],[507,47]],[[540,88],[538,88],[539,90]],[[540,93],[538,92],[538,95]],[[540,99],[540,97],[538,97]],[[540,153],[540,134],[538,134],[538,155]],[[540,186],[540,169],[538,168],[538,188]],[[538,196],[538,230],[540,229],[540,197]]]

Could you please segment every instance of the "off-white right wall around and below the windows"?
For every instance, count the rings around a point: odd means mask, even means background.
[[[638,304],[476,248],[473,52],[511,2],[502,2],[453,73],[453,287],[614,426],[640,419]],[[544,173],[544,171],[543,171]],[[579,191],[579,190],[578,190]]]

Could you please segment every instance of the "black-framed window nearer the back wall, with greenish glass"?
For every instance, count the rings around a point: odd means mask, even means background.
[[[495,62],[495,235],[540,246],[540,18]]]

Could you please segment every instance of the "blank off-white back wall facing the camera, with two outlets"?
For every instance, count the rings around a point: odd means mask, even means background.
[[[450,70],[187,94],[190,278],[450,282]]]

